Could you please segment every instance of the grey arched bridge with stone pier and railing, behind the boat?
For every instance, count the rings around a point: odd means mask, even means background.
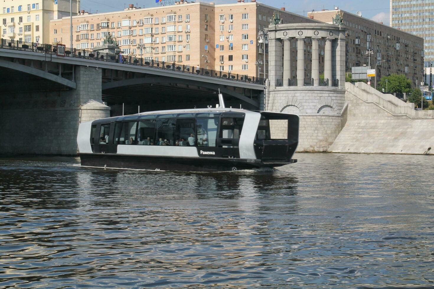
[[[219,90],[229,106],[259,109],[265,89],[263,78],[82,49],[61,56],[54,45],[6,39],[0,77],[0,120],[7,124],[0,136],[10,140],[0,153],[74,155],[82,121],[207,107]],[[32,141],[14,145],[23,135]]]

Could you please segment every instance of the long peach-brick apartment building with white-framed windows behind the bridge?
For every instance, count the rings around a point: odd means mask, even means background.
[[[111,13],[81,11],[73,17],[73,48],[93,49],[111,33],[124,55],[263,77],[263,65],[256,64],[263,61],[264,49],[258,31],[269,25],[273,12],[279,10],[283,23],[316,22],[254,0],[236,1],[180,0],[142,9],[130,4]],[[50,42],[70,45],[69,18],[52,20],[49,29]],[[265,52],[267,59],[267,45]]]

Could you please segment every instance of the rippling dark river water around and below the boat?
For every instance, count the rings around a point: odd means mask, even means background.
[[[434,286],[434,156],[275,171],[0,159],[1,288]]]

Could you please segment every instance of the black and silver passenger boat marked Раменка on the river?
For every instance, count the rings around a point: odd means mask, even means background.
[[[220,102],[221,103],[221,102]],[[218,106],[218,105],[217,105]],[[270,124],[284,139],[273,139]],[[82,167],[236,171],[296,162],[299,117],[225,108],[164,110],[81,123]]]

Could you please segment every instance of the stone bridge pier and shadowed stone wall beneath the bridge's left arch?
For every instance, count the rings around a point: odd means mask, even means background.
[[[110,116],[101,71],[76,66],[76,89],[0,94],[0,153],[76,155],[79,123]]]

